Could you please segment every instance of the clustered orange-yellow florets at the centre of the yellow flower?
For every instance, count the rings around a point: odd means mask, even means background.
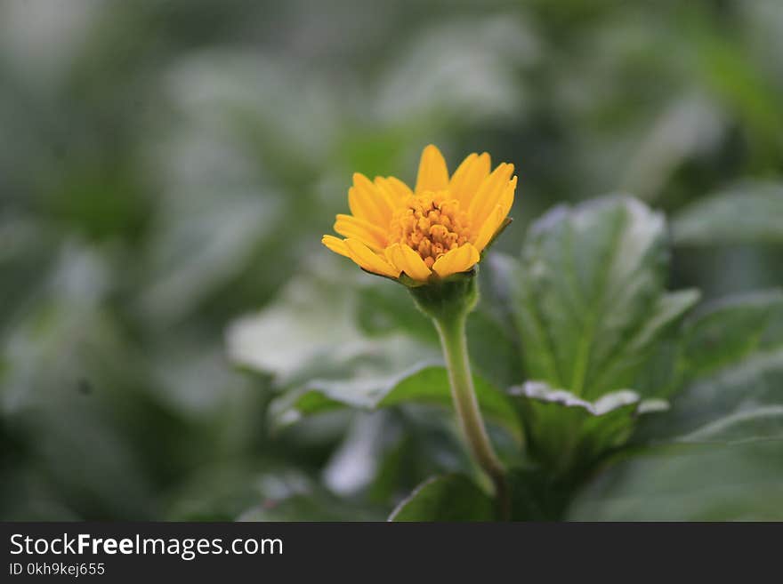
[[[441,255],[470,241],[470,220],[447,190],[411,196],[391,218],[391,243],[418,252],[427,268]]]

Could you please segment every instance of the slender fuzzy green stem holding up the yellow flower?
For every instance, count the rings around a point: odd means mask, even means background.
[[[448,379],[451,382],[451,396],[454,400],[457,418],[471,449],[473,458],[492,479],[500,516],[511,518],[511,499],[505,470],[489,442],[484,420],[481,418],[476,391],[473,388],[471,365],[468,361],[465,321],[467,311],[450,312],[448,316],[434,317],[435,327],[440,334],[440,344],[446,357]]]

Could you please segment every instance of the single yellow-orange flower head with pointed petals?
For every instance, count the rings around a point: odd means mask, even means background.
[[[513,164],[489,172],[489,155],[472,154],[449,178],[435,146],[422,152],[416,189],[394,177],[353,175],[350,215],[337,215],[324,236],[330,250],[381,276],[405,273],[418,283],[471,269],[513,204]]]

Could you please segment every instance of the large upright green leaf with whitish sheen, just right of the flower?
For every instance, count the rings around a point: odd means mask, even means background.
[[[666,294],[666,224],[626,196],[559,206],[530,229],[512,309],[529,379],[594,399],[633,387],[698,300]]]

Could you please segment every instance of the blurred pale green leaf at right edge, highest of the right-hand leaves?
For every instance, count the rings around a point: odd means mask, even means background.
[[[748,182],[691,204],[673,220],[674,243],[783,243],[783,184]]]

